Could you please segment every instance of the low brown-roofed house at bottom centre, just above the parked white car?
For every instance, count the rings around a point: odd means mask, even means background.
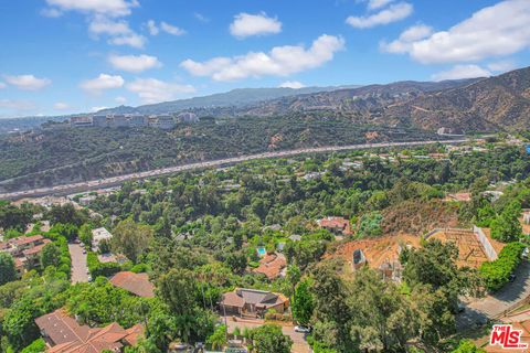
[[[223,314],[256,317],[263,315],[269,309],[283,313],[289,307],[289,300],[271,291],[237,288],[224,293],[220,306]]]

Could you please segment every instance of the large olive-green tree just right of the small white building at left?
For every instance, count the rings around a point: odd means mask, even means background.
[[[123,253],[136,264],[138,257],[149,247],[152,237],[153,231],[150,226],[137,224],[131,218],[127,218],[114,228],[110,245],[115,253]]]

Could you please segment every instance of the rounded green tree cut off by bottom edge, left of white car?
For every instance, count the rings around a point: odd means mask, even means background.
[[[275,324],[264,324],[251,333],[254,350],[257,353],[289,353],[293,340],[282,333]]]

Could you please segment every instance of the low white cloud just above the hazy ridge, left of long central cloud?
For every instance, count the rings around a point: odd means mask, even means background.
[[[127,89],[138,94],[145,104],[173,100],[182,94],[195,92],[191,85],[167,83],[156,78],[137,78],[127,84]]]

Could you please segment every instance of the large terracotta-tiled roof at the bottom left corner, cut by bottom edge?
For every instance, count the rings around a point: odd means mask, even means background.
[[[80,325],[62,309],[36,318],[35,323],[46,342],[47,353],[120,352],[124,346],[136,344],[144,332],[140,324],[127,330],[116,322],[105,328]]]

